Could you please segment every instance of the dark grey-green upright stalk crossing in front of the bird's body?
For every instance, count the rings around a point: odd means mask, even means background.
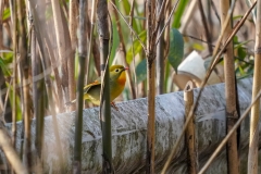
[[[102,172],[114,173],[112,165],[112,142],[111,142],[111,105],[110,105],[110,79],[109,79],[109,24],[108,24],[108,3],[107,0],[98,0],[98,33],[100,36],[100,63],[101,63],[101,94],[100,94],[100,122],[102,129]]]

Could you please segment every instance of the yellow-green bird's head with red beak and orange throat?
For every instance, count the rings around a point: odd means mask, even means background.
[[[124,67],[123,65],[112,65],[110,67],[110,79],[111,80],[117,80],[120,85],[125,85],[126,82],[126,73],[125,71],[128,70],[128,67]]]

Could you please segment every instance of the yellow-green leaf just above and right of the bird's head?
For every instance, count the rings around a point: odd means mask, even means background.
[[[145,42],[146,38],[147,38],[147,32],[142,30],[139,34],[139,38],[142,42]],[[133,55],[133,48],[134,48],[134,55]],[[133,46],[127,50],[127,54],[126,54],[126,60],[127,63],[129,64],[133,61],[133,58],[137,54],[137,53],[141,53],[142,51],[142,47],[139,42],[138,39],[134,40]]]

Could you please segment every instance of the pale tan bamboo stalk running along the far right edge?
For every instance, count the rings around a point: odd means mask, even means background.
[[[261,89],[261,1],[257,4],[257,23],[256,23],[256,46],[254,46],[254,71],[252,100]],[[248,152],[248,173],[258,174],[258,151],[259,151],[259,119],[260,119],[260,99],[251,109],[250,120],[250,138]]]

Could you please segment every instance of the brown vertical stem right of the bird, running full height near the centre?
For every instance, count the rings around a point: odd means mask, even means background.
[[[148,0],[146,3],[147,18],[147,79],[148,79],[148,129],[147,129],[147,158],[146,173],[154,173],[154,95],[156,95],[156,41],[153,38],[153,16],[154,0]]]

